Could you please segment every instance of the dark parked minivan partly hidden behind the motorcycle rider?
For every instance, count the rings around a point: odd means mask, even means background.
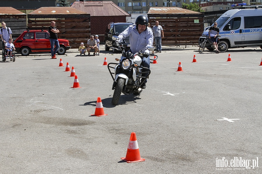
[[[133,25],[133,23],[109,23],[107,26],[107,29],[105,31],[105,50],[109,51],[110,47],[114,47],[114,41],[112,39],[112,36],[118,36],[121,32],[123,32],[126,28],[128,28],[130,25]],[[121,42],[123,47],[125,47],[125,50],[130,49],[130,42],[129,37],[126,37],[123,42]],[[113,49],[113,53],[116,53],[117,50]]]

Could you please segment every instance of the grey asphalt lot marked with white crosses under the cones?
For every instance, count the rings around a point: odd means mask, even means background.
[[[75,49],[57,59],[17,53],[15,62],[0,62],[1,174],[261,173],[259,47],[219,54],[164,47],[147,88],[122,94],[117,106],[103,63],[120,54],[100,49],[100,56]],[[67,62],[81,88],[71,88]],[[91,116],[98,97],[106,116]],[[131,132],[144,162],[120,159]]]

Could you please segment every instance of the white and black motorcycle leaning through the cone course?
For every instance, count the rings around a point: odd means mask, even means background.
[[[113,36],[112,39],[115,41],[119,40],[117,36]],[[109,73],[114,80],[112,87],[112,90],[114,90],[114,95],[111,103],[113,105],[117,105],[121,93],[125,95],[132,93],[135,95],[140,94],[142,92],[141,85],[144,83],[144,81],[146,81],[146,78],[149,77],[151,71],[149,68],[141,66],[143,58],[143,53],[141,52],[143,50],[132,54],[131,52],[125,52],[124,47],[120,45],[114,46],[113,49],[122,52],[121,59],[115,59],[116,61],[119,61],[119,63],[109,63],[107,65]],[[153,47],[147,49],[150,51],[154,50]],[[149,56],[155,56],[154,59],[150,60],[156,60],[158,58],[157,55],[153,54]],[[153,61],[150,61],[150,63],[153,63]],[[147,75],[146,77],[142,77],[142,74]]]

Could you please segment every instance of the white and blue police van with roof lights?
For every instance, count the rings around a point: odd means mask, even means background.
[[[260,46],[262,49],[262,5],[246,6],[246,3],[240,3],[231,6],[237,9],[228,10],[215,21],[221,36],[219,50],[225,52],[228,48],[247,46]],[[203,34],[208,35],[208,29]],[[199,45],[204,39],[203,36],[199,38]],[[214,50],[208,43],[206,48]]]

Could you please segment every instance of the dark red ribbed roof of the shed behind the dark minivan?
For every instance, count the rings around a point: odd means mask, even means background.
[[[77,10],[87,12],[90,16],[129,16],[112,1],[81,1],[74,2],[71,6]]]

